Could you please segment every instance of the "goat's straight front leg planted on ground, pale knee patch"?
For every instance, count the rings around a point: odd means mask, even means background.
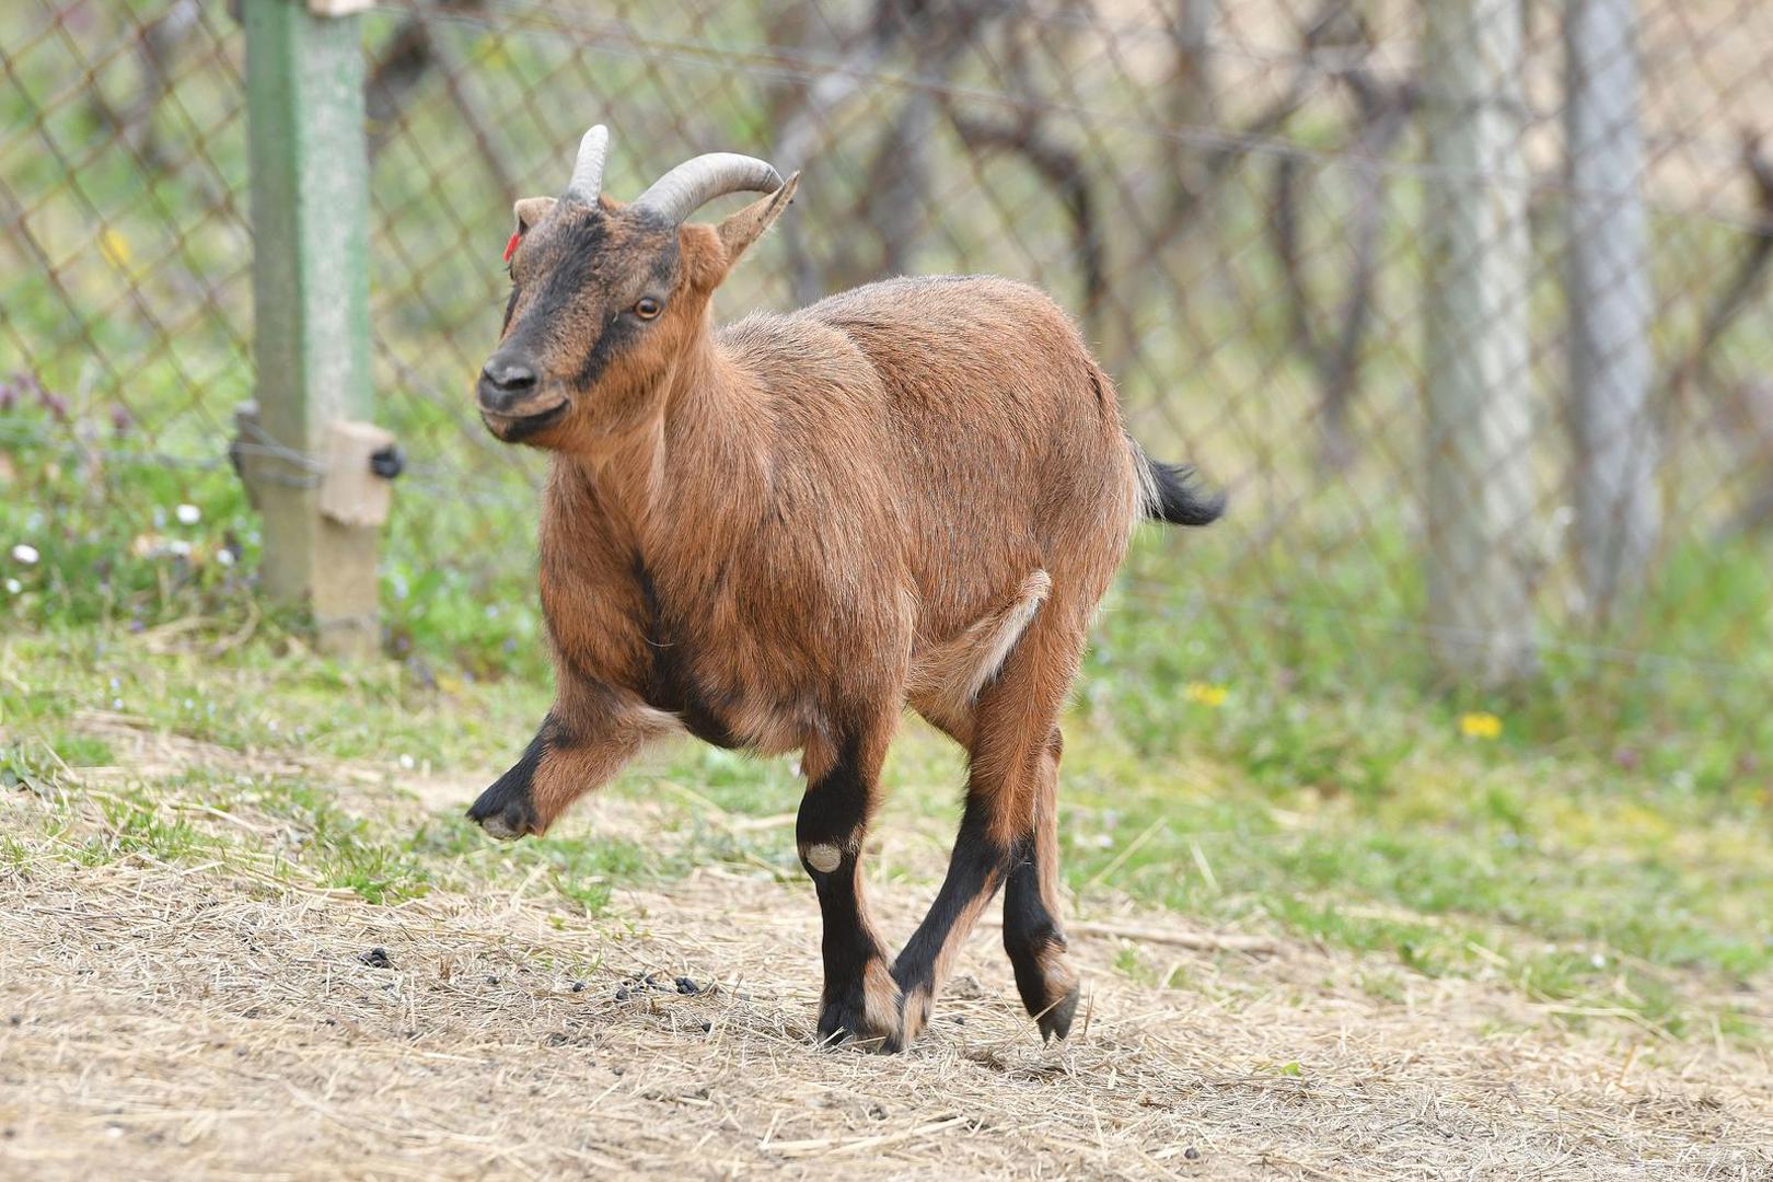
[[[899,987],[862,890],[862,844],[874,813],[890,727],[847,735],[803,755],[807,796],[794,838],[812,875],[824,921],[824,991],[819,1040],[855,1038],[876,1051],[899,1049]]]

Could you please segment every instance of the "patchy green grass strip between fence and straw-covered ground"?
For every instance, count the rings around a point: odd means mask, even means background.
[[[1371,953],[1363,980],[1378,998],[1411,975],[1475,976],[1562,1005],[1571,1023],[1626,1012],[1675,1037],[1769,1037],[1730,1001],[1773,976],[1764,796],[1509,743],[1507,718],[1502,737],[1473,739],[1457,712],[1408,696],[1220,695],[1124,663],[1105,677],[1090,672],[1094,696],[1067,718],[1064,874],[1085,907],[1119,893],[1206,925]],[[1145,714],[1119,718],[1115,704],[1135,693]],[[791,760],[695,743],[612,789],[663,810],[668,824],[647,842],[567,829],[498,845],[456,812],[353,815],[321,771],[183,771],[98,797],[80,787],[82,766],[128,758],[83,730],[92,711],[266,757],[367,760],[397,782],[408,766],[495,773],[546,698],[544,684],[514,679],[344,670],[273,626],[216,657],[151,652],[117,627],[14,631],[0,642],[0,782],[51,803],[59,856],[238,858],[372,904],[440,884],[532,890],[569,920],[605,911],[622,886],[706,863],[798,881],[791,826],[730,824],[793,813]],[[959,751],[908,725],[886,778],[881,826],[947,840]],[[0,867],[23,865],[32,840],[9,838]],[[1156,984],[1161,968],[1124,953],[1138,980]]]

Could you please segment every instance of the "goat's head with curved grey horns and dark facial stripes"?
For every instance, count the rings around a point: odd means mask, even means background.
[[[697,156],[633,204],[601,193],[610,136],[592,128],[560,197],[516,204],[511,303],[480,369],[480,418],[507,443],[589,452],[644,425],[707,301],[794,193],[750,156]],[[684,225],[727,193],[768,193],[720,225]]]

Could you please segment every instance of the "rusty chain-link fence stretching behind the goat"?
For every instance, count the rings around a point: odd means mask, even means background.
[[[606,122],[617,197],[699,151],[803,170],[725,317],[895,271],[1069,307],[1133,432],[1232,498],[1131,564],[1177,675],[1528,686],[1571,734],[1704,727],[1732,767],[1764,758],[1773,9],[457,0],[363,23],[376,420],[411,457],[397,649],[441,587],[532,636],[541,461],[486,436],[470,386],[511,200],[558,191]],[[128,610],[165,579],[128,558],[191,560],[167,514],[193,480],[223,496],[254,390],[241,32],[197,0],[21,0],[0,50],[0,441],[46,500],[20,530],[60,530],[66,578]],[[44,464],[80,494],[20,471]],[[211,546],[229,578],[239,521]]]

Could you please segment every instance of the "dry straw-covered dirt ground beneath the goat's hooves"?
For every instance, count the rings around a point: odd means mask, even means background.
[[[383,815],[472,794],[363,778]],[[668,840],[615,797],[574,824]],[[885,840],[902,934],[940,844]],[[801,883],[713,865],[567,923],[541,893],[0,870],[0,1175],[1773,1178],[1764,1056],[1395,960],[1097,906],[1069,1046],[1041,1046],[988,927],[886,1058],[812,1046]]]

